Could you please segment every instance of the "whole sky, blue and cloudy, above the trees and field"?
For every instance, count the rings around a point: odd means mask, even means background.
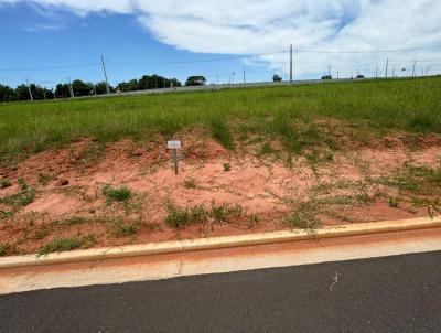
[[[441,73],[440,0],[0,0],[0,84]]]

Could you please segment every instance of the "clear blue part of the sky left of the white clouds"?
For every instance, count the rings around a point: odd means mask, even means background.
[[[90,13],[87,17],[78,17],[63,10],[45,15],[35,6],[18,3],[0,7],[0,15],[1,37],[7,39],[3,45],[8,45],[2,47],[0,53],[0,69],[99,63],[101,54],[109,63],[185,62],[237,56],[237,54],[194,53],[161,43],[142,29],[132,14]],[[190,75],[202,74],[208,82],[222,83],[228,82],[235,72],[234,79],[237,82],[243,80],[244,68],[247,80],[268,80],[278,72],[266,65],[248,65],[241,60],[168,65],[107,64],[109,82],[112,85],[154,73],[178,77],[182,82]],[[29,78],[30,82],[52,87],[56,83],[66,82],[68,77],[90,82],[104,80],[100,65],[41,71],[0,71],[0,83],[11,86]]]

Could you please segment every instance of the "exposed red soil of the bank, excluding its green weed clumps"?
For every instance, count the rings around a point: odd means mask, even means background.
[[[202,138],[202,139],[201,139]],[[440,165],[441,146],[427,139],[418,150],[407,149],[402,138],[386,138],[387,147],[369,147],[336,152],[333,161],[311,165],[304,158],[293,160],[292,168],[282,161],[270,161],[252,154],[232,154],[219,143],[192,133],[183,135],[179,174],[175,175],[165,140],[157,137],[144,146],[121,140],[100,146],[84,139],[60,150],[30,157],[18,168],[3,170],[13,186],[0,190],[0,198],[19,191],[18,179],[34,186],[33,203],[8,217],[0,227],[0,241],[17,244],[22,250],[35,251],[57,236],[97,236],[96,246],[147,243],[214,235],[259,233],[284,228],[283,217],[299,203],[311,200],[320,185],[363,182],[366,173],[378,176],[402,166],[405,162]],[[225,171],[223,164],[230,164]],[[61,185],[60,180],[68,184]],[[65,183],[65,182],[64,182]],[[104,184],[128,186],[135,197],[130,204],[106,202]],[[351,186],[322,191],[321,197],[353,195]],[[378,192],[390,189],[365,189],[366,205],[337,205],[334,212],[321,213],[324,224],[344,224],[408,218],[427,214],[423,208],[390,207]],[[388,192],[389,191],[389,192]],[[164,224],[168,205],[192,207],[228,204],[240,205],[244,216],[232,224],[192,225],[183,230]],[[0,206],[7,211],[7,206]],[[334,213],[334,214],[333,214]],[[257,214],[258,222],[250,221]],[[87,223],[54,228],[55,219],[83,216]],[[139,224],[136,235],[117,238],[111,235],[115,219]],[[142,223],[140,223],[142,222]],[[40,230],[40,232],[39,232]]]

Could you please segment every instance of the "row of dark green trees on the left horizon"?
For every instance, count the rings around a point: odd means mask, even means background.
[[[206,79],[204,76],[190,76],[185,82],[185,86],[200,86],[205,84]],[[146,89],[173,88],[181,86],[181,82],[179,82],[176,78],[166,78],[153,74],[143,75],[140,79],[121,82],[115,87],[109,85],[108,88],[109,93],[125,93]],[[0,103],[30,100],[31,95],[34,100],[41,100],[104,94],[107,94],[107,84],[105,82],[93,84],[90,82],[74,79],[72,83],[57,84],[55,89],[49,89],[46,87],[35,84],[21,84],[15,88],[0,84]]]

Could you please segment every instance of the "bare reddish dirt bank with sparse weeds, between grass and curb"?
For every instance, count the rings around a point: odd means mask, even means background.
[[[440,192],[430,190],[441,184],[438,138],[421,139],[416,149],[391,137],[386,146],[289,162],[252,149],[230,153],[204,136],[182,140],[178,175],[161,137],[146,144],[83,139],[2,170],[12,182],[0,190],[3,255],[86,235],[87,246],[123,245],[409,218],[439,208]]]

